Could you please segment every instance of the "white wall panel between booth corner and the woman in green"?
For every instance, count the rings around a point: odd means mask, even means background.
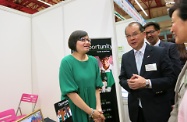
[[[64,56],[62,4],[32,17],[33,92],[44,117],[56,119],[54,103],[61,100],[58,71]]]

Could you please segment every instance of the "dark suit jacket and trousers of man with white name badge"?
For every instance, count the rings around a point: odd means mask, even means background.
[[[170,116],[171,104],[167,91],[174,85],[175,77],[171,61],[165,52],[165,48],[146,45],[140,76],[150,79],[152,88],[138,90],[130,89],[127,84],[127,79],[133,74],[138,74],[134,51],[131,50],[122,56],[119,79],[120,85],[128,91],[129,115],[132,122],[138,122],[139,98],[146,122],[167,122]],[[146,71],[145,65],[154,63],[157,70]]]

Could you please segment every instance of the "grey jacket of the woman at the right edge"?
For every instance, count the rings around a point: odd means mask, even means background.
[[[171,116],[169,118],[168,122],[178,122],[177,117],[178,117],[178,107],[181,102],[181,99],[183,98],[183,95],[187,89],[187,84],[184,84],[184,81],[187,79],[183,79],[187,71],[187,62],[185,63],[181,73],[179,74],[177,83],[175,85],[175,105],[174,108],[171,112]]]

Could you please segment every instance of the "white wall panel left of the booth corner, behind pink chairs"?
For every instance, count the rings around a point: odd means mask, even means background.
[[[22,93],[31,87],[31,18],[0,6],[0,111],[17,109]],[[30,113],[28,104],[23,112]]]

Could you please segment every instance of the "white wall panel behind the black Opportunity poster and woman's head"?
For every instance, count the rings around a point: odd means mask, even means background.
[[[123,121],[121,87],[118,83],[117,41],[114,22],[113,0],[76,0],[64,6],[65,40],[74,30],[85,30],[90,38],[110,37],[113,46],[114,78],[116,81],[120,120]],[[67,41],[65,42],[67,45]],[[67,48],[68,49],[68,48]],[[66,50],[67,50],[66,49]]]

